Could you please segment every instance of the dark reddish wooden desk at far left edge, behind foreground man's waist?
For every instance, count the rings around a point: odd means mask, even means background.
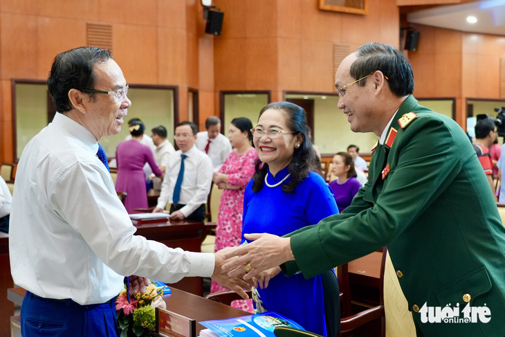
[[[14,315],[14,304],[7,300],[7,289],[12,288],[9,261],[9,235],[0,232],[0,336],[10,336],[9,317]]]

